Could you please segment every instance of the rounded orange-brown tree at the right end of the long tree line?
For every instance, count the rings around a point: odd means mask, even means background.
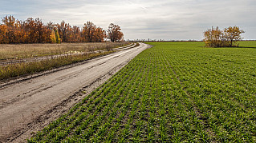
[[[111,42],[122,41],[124,34],[121,32],[121,27],[111,23],[108,26],[108,38]]]

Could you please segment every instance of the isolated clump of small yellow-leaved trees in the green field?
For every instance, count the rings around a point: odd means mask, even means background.
[[[241,34],[245,33],[238,26],[230,26],[225,30],[219,30],[218,27],[206,30],[204,32],[205,46],[208,47],[231,47],[238,46],[236,42],[242,40]]]

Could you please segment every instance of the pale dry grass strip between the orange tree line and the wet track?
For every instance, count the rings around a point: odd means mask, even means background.
[[[33,58],[56,54],[109,50],[128,42],[61,43],[61,44],[0,44],[0,60]]]

